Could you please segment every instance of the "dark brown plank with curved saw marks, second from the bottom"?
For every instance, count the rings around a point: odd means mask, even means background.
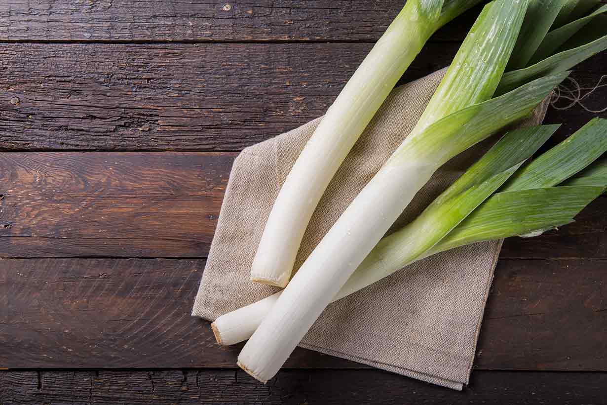
[[[500,260],[476,367],[607,370],[607,262]],[[0,367],[233,367],[189,313],[204,260],[0,260]],[[287,367],[366,368],[297,349]]]

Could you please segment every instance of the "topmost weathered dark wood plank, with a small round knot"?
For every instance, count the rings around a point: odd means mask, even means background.
[[[403,0],[2,0],[0,40],[376,41],[403,4]],[[435,39],[463,38],[479,11],[480,7],[470,10],[436,33]]]

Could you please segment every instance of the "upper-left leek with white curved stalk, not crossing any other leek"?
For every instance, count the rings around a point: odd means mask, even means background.
[[[480,0],[410,0],[327,110],[271,210],[251,280],[285,287],[304,231],[331,178],[436,29]]]

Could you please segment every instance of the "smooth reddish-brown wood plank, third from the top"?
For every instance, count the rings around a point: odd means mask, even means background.
[[[0,257],[206,257],[236,154],[0,154]],[[507,257],[607,258],[607,198]]]

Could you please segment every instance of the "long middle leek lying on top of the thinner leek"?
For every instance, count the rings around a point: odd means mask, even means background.
[[[518,97],[520,104],[512,103],[513,111],[492,103],[500,98],[482,103],[492,97],[500,81],[526,7],[523,0],[495,0],[483,9],[439,84],[435,93],[439,96],[422,114],[422,123],[334,223],[240,352],[238,364],[243,370],[263,382],[276,375],[433,172],[504,124],[531,112],[560,83],[563,75],[538,80]],[[419,237],[432,231],[424,230]],[[407,249],[416,254],[421,246],[411,242]]]

